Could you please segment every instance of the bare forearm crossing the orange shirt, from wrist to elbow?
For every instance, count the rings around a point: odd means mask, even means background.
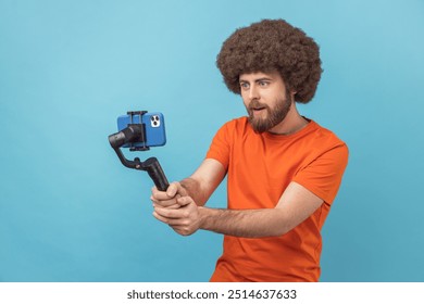
[[[217,210],[199,207],[200,229],[240,238],[277,237],[289,231],[278,208]]]

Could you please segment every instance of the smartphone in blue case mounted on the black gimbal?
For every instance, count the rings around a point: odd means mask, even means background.
[[[130,147],[159,147],[166,143],[165,121],[160,112],[145,114],[127,114],[117,117],[117,130],[126,128],[129,124],[145,124],[146,142],[134,142],[123,145]]]

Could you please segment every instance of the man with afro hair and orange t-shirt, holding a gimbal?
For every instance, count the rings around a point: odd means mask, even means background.
[[[282,20],[237,29],[217,66],[248,117],[226,123],[200,167],[166,192],[153,215],[177,233],[224,235],[211,281],[317,281],[321,229],[348,162],[332,131],[299,114],[322,68],[313,39]],[[228,208],[203,205],[227,175]]]

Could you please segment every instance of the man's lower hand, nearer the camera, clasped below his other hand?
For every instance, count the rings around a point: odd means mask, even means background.
[[[199,207],[190,197],[180,197],[176,199],[178,208],[163,207],[159,204],[153,204],[153,216],[167,224],[175,232],[182,236],[190,236],[195,233],[201,224]]]

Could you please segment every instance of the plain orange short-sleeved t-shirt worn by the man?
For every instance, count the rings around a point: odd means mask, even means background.
[[[296,134],[255,134],[247,117],[226,123],[207,159],[227,169],[228,208],[273,208],[296,181],[324,200],[315,213],[280,237],[225,236],[211,281],[317,281],[321,228],[348,162],[348,148],[313,121]]]

